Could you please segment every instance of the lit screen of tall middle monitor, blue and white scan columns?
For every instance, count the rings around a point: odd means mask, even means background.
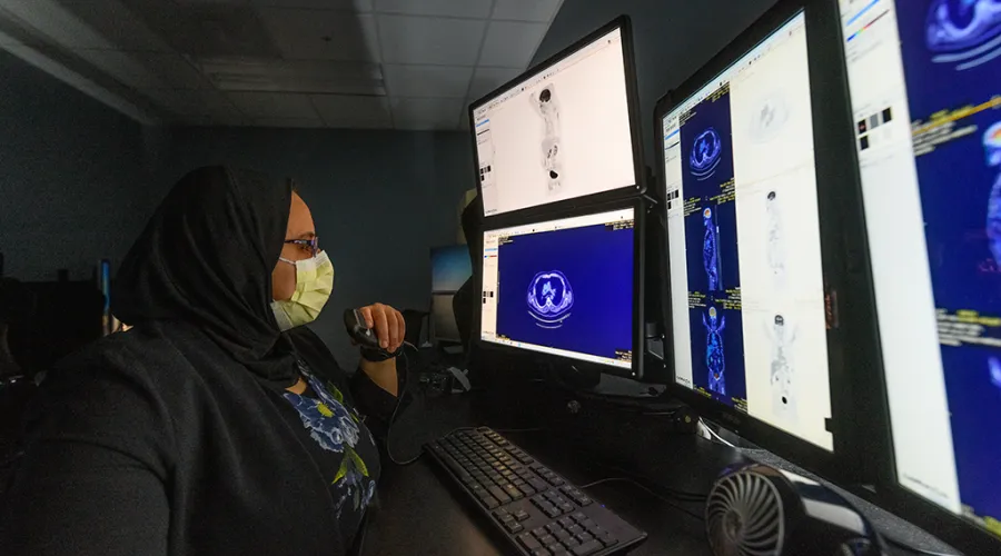
[[[833,450],[803,13],[661,123],[675,380]]]

